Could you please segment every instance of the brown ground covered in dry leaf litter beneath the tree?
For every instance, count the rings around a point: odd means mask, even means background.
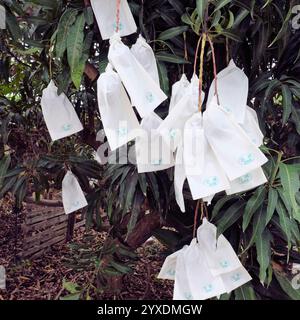
[[[0,265],[6,269],[6,290],[0,289],[0,300],[54,300],[66,294],[62,287],[63,279],[84,284],[91,277],[89,272],[68,268],[64,257],[69,254],[67,244],[55,245],[43,256],[34,260],[20,261],[16,258],[22,250],[22,237],[16,241],[16,219],[9,203],[0,203]],[[22,223],[24,213],[18,217]],[[76,231],[73,241],[79,242],[85,228]],[[104,239],[105,235],[98,234]],[[125,276],[124,287],[117,296],[105,294],[103,299],[154,299],[172,298],[173,283],[157,279],[164,261],[165,249],[155,239],[139,248],[138,260],[133,272]]]

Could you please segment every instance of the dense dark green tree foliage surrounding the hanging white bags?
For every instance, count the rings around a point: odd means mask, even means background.
[[[202,32],[213,40],[218,70],[230,58],[245,70],[250,80],[248,104],[258,113],[265,134],[268,183],[247,193],[219,194],[208,215],[253,276],[251,284],[230,298],[300,299],[289,281],[291,264],[300,261],[300,31],[295,27],[299,23],[293,10],[296,1],[129,3],[139,31],[155,51],[161,87],[168,95],[183,71],[192,75]],[[45,190],[60,190],[64,172],[71,168],[88,193],[88,227],[101,230],[106,220],[111,226],[100,253],[74,249],[77,267],[81,260],[88,261],[102,287],[106,277],[130,270],[127,263],[133,255],[128,246],[142,244],[130,237],[145,231],[137,226],[141,221],[148,223],[148,216],[156,223],[149,224],[146,238],[154,234],[170,250],[190,241],[196,204],[186,188],[187,212],[180,212],[174,201],[173,169],[138,175],[132,164],[100,166],[93,158],[101,144],[96,141],[97,132],[102,128],[95,80],[97,71],[103,72],[107,64],[109,44],[101,39],[89,1],[0,0],[0,4],[7,12],[7,29],[0,33],[0,198],[11,192],[16,208],[32,194],[38,201]],[[136,38],[132,35],[124,41],[131,45]],[[196,63],[198,70],[199,61]],[[84,125],[83,132],[55,143],[40,108],[41,93],[50,78],[70,97]],[[207,45],[206,93],[212,79],[212,52]],[[168,103],[157,111],[164,117]]]

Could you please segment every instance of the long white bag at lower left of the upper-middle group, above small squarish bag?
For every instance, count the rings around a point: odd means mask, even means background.
[[[139,134],[139,122],[121,79],[110,64],[98,79],[97,91],[101,121],[114,151]]]

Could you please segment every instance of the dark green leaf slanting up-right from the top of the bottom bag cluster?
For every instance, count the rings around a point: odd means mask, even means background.
[[[243,214],[244,201],[237,201],[231,205],[216,222],[218,227],[217,237],[232,226]]]

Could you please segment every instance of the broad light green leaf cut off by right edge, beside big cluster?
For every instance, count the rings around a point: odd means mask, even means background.
[[[280,163],[279,175],[283,186],[283,194],[291,204],[294,218],[300,222],[300,208],[296,201],[296,193],[300,189],[299,174],[291,165]]]

